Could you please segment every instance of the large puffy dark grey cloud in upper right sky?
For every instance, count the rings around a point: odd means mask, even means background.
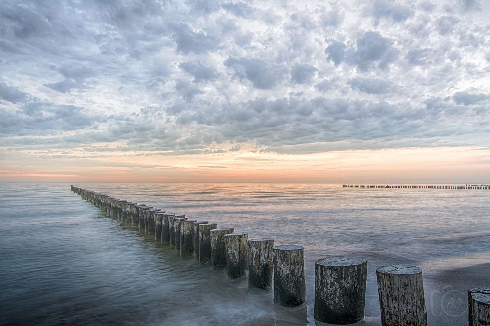
[[[356,65],[361,71],[366,71],[375,64],[385,69],[396,59],[397,54],[398,51],[392,48],[391,40],[377,32],[368,31],[356,40],[355,49],[347,51],[345,61]]]

